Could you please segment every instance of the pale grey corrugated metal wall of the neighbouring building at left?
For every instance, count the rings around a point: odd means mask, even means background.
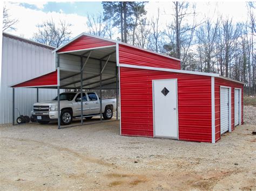
[[[9,86],[54,71],[55,58],[51,49],[5,36],[2,47],[0,124],[5,124],[12,122],[12,88]],[[55,89],[39,89],[39,101],[49,100],[56,94]],[[30,116],[35,102],[36,89],[15,89],[15,108],[22,115]],[[15,109],[15,119],[17,116]]]

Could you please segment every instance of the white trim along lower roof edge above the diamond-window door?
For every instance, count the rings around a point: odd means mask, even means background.
[[[120,63],[119,66],[126,67],[126,68],[150,69],[150,70],[158,70],[158,71],[164,71],[164,72],[174,72],[174,73],[219,77],[219,74],[205,73],[205,72],[193,72],[193,71],[181,70],[181,69],[169,69],[169,68],[157,68],[157,67],[149,67],[149,66],[127,65],[125,63]]]

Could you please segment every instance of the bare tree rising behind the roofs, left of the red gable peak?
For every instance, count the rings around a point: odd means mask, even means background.
[[[37,25],[38,32],[34,34],[32,39],[38,43],[59,47],[70,40],[70,26],[72,25],[63,20],[59,20],[58,24],[53,22],[53,19],[46,20]]]

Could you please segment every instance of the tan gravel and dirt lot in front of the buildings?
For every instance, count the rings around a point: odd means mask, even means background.
[[[119,121],[4,125],[0,189],[256,190],[252,130],[245,123],[211,144],[119,136]]]

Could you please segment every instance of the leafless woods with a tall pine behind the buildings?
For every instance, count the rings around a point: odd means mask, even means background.
[[[219,73],[245,82],[245,93],[255,94],[256,3],[245,2],[247,19],[241,23],[219,13],[198,17],[197,4],[188,2],[170,2],[170,8],[164,9],[171,14],[156,8],[149,18],[146,4],[102,2],[102,13],[87,15],[85,32],[179,58],[184,70]],[[168,17],[164,25],[163,17]],[[58,47],[70,40],[70,26],[64,20],[45,20],[32,39]]]

